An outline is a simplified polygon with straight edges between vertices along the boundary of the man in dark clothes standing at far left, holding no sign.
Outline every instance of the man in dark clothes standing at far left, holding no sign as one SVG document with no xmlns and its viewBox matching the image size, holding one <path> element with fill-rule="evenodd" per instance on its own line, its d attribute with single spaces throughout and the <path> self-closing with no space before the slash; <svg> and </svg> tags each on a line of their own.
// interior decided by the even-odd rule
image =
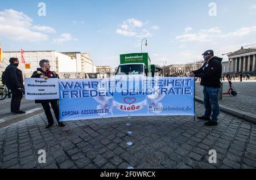
<svg viewBox="0 0 256 180">
<path fill-rule="evenodd" d="M 24 92 L 23 75 L 19 70 L 19 59 L 10 58 L 10 65 L 5 69 L 5 83 L 8 89 L 11 89 L 11 114 L 23 114 L 20 108 L 22 93 Z"/>
</svg>

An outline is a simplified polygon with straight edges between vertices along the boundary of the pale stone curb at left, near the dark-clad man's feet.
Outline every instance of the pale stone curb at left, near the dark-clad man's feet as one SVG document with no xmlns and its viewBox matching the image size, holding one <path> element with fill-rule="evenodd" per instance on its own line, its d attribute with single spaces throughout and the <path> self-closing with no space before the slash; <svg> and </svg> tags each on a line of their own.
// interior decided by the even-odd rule
<svg viewBox="0 0 256 180">
<path fill-rule="evenodd" d="M 0 128 L 9 126 L 13 123 L 22 121 L 22 120 L 30 118 L 30 117 L 33 117 L 34 115 L 37 115 L 37 114 L 40 114 L 40 113 L 43 113 L 43 112 L 44 112 L 44 110 L 42 108 L 35 108 L 35 109 L 28 110 L 25 114 L 10 115 L 7 118 L 0 119 Z"/>
</svg>

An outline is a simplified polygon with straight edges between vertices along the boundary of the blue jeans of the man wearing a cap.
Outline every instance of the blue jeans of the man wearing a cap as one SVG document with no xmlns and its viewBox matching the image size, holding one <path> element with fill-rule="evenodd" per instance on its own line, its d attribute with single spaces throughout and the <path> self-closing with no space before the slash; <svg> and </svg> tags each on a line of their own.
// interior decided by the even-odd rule
<svg viewBox="0 0 256 180">
<path fill-rule="evenodd" d="M 220 88 L 205 87 L 204 86 L 204 117 L 209 118 L 212 114 L 212 121 L 218 121 L 218 114 L 220 114 L 220 106 L 218 106 L 218 92 Z"/>
</svg>

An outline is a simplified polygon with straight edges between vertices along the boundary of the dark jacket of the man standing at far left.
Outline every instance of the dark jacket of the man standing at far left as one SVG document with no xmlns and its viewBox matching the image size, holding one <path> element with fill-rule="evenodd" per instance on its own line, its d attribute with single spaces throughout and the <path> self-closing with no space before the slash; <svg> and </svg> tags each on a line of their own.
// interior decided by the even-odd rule
<svg viewBox="0 0 256 180">
<path fill-rule="evenodd" d="M 5 82 L 9 89 L 24 88 L 22 71 L 14 64 L 5 69 Z"/>
</svg>

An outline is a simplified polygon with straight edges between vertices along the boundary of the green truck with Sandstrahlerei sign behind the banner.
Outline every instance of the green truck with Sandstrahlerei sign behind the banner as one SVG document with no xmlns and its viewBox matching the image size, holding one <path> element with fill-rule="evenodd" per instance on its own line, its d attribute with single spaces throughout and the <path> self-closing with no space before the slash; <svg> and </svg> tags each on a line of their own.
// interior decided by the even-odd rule
<svg viewBox="0 0 256 180">
<path fill-rule="evenodd" d="M 115 75 L 142 75 L 151 72 L 151 60 L 148 53 L 131 53 L 120 55 L 120 65 Z"/>
</svg>

